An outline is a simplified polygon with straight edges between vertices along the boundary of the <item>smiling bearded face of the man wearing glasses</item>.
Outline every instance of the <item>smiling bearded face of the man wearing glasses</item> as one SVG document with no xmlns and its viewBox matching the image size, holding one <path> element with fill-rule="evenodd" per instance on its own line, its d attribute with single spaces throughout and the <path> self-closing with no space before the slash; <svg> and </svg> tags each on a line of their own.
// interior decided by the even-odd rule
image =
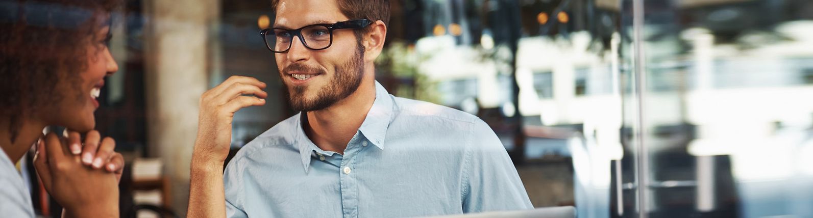
<svg viewBox="0 0 813 218">
<path fill-rule="evenodd" d="M 336 0 L 283 0 L 277 5 L 274 27 L 297 29 L 346 20 Z M 363 59 L 363 46 L 353 30 L 340 29 L 333 31 L 333 45 L 323 50 L 308 49 L 294 36 L 287 52 L 276 53 L 276 66 L 292 108 L 313 111 L 326 109 L 359 88 Z"/>
</svg>

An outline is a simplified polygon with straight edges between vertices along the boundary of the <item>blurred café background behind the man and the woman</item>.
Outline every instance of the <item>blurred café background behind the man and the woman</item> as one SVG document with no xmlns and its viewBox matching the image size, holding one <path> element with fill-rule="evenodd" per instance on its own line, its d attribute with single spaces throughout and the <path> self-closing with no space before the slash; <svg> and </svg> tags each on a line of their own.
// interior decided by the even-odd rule
<svg viewBox="0 0 813 218">
<path fill-rule="evenodd" d="M 391 3 L 377 80 L 488 122 L 534 207 L 813 217 L 813 1 Z M 116 17 L 120 71 L 96 115 L 127 156 L 122 203 L 183 217 L 202 92 L 269 83 L 270 104 L 237 113 L 233 152 L 294 113 L 258 33 L 271 3 L 127 0 Z"/>
</svg>

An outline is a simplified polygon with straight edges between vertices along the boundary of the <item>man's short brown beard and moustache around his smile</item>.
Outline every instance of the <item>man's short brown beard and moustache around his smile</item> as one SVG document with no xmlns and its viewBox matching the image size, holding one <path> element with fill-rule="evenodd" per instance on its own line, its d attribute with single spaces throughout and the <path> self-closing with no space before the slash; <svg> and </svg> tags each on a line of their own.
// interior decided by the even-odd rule
<svg viewBox="0 0 813 218">
<path fill-rule="evenodd" d="M 288 92 L 288 102 L 295 111 L 315 111 L 326 109 L 339 100 L 345 99 L 359 89 L 364 71 L 364 47 L 359 43 L 356 51 L 350 60 L 339 65 L 333 74 L 333 78 L 328 84 L 316 91 L 316 98 L 308 100 L 305 95 L 306 86 L 289 86 L 285 84 L 285 91 Z M 302 63 L 293 63 L 282 71 L 280 76 L 289 76 L 289 71 L 303 71 L 326 75 L 322 69 L 306 66 Z"/>
</svg>

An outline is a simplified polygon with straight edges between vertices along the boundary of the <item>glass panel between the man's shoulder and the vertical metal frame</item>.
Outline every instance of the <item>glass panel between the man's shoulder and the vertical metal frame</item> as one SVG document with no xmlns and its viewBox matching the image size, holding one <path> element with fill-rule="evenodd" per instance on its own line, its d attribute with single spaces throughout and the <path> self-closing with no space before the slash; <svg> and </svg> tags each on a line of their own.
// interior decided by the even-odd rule
<svg viewBox="0 0 813 218">
<path fill-rule="evenodd" d="M 612 163 L 633 166 L 621 143 L 635 124 L 622 104 L 635 98 L 621 1 L 398 1 L 393 11 L 376 66 L 385 87 L 488 122 L 535 207 L 610 216 L 611 188 L 634 181 L 624 169 L 611 182 L 621 181 Z M 624 193 L 634 208 L 634 189 Z"/>
</svg>

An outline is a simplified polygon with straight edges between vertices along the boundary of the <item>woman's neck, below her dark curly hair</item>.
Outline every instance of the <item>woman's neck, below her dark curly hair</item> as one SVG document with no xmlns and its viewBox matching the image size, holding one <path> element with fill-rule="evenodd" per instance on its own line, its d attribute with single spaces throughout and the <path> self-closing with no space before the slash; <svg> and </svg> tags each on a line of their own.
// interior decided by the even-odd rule
<svg viewBox="0 0 813 218">
<path fill-rule="evenodd" d="M 21 123 L 18 126 L 9 126 L 10 119 L 4 120 L 5 122 L 0 122 L 0 147 L 3 152 L 6 152 L 12 163 L 17 163 L 42 136 L 42 129 L 46 126 L 25 119 L 20 120 Z M 12 133 L 11 130 L 16 130 L 16 133 Z M 12 135 L 15 136 L 14 142 L 11 142 Z"/>
</svg>

